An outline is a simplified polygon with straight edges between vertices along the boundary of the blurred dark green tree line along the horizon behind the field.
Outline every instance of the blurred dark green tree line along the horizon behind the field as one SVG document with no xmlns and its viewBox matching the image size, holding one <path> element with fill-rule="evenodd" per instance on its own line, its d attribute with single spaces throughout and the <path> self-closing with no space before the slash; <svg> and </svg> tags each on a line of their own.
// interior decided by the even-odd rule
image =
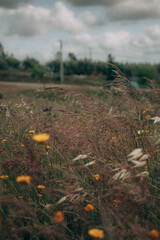
<svg viewBox="0 0 160 240">
<path fill-rule="evenodd" d="M 131 81 L 137 81 L 139 84 L 145 84 L 147 77 L 160 83 L 160 63 L 121 63 L 117 62 L 109 54 L 105 61 L 93 61 L 91 59 L 78 59 L 74 53 L 69 53 L 64 64 L 65 76 L 90 76 L 93 78 L 103 78 L 112 81 L 115 77 L 111 63 L 116 65 L 123 74 Z M 7 54 L 3 45 L 0 43 L 0 71 L 23 71 L 29 72 L 32 78 L 43 78 L 45 74 L 52 74 L 54 78 L 59 79 L 60 74 L 60 53 L 57 52 L 55 58 L 45 64 L 41 64 L 37 59 L 26 57 L 20 61 L 13 54 Z"/>
</svg>

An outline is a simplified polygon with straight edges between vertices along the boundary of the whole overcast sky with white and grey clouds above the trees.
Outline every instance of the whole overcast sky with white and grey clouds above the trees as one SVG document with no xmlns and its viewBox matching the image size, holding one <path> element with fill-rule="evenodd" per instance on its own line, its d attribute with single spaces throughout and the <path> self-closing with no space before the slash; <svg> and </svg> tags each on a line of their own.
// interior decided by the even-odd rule
<svg viewBox="0 0 160 240">
<path fill-rule="evenodd" d="M 160 0 L 0 0 L 0 41 L 9 53 L 49 61 L 92 54 L 160 62 Z"/>
</svg>

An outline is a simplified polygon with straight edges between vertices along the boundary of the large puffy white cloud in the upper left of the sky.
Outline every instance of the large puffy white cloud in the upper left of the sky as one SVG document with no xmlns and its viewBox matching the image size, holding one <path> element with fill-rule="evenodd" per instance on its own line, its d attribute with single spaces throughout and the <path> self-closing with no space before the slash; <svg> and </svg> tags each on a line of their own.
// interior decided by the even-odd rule
<svg viewBox="0 0 160 240">
<path fill-rule="evenodd" d="M 62 2 L 57 2 L 52 10 L 29 5 L 12 10 L 0 9 L 0 14 L 8 35 L 31 37 L 49 29 L 70 33 L 86 29 L 83 22 L 75 18 L 73 12 Z"/>
</svg>

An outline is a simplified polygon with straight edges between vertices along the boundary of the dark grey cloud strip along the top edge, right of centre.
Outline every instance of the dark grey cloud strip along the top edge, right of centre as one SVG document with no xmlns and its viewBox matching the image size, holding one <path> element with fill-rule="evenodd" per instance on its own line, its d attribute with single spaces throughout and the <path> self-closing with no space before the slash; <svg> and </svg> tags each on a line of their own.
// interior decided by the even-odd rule
<svg viewBox="0 0 160 240">
<path fill-rule="evenodd" d="M 77 7 L 83 7 L 83 6 L 96 6 L 96 5 L 102 5 L 102 6 L 113 6 L 120 2 L 124 2 L 126 0 L 66 0 L 68 3 L 77 6 Z"/>
</svg>

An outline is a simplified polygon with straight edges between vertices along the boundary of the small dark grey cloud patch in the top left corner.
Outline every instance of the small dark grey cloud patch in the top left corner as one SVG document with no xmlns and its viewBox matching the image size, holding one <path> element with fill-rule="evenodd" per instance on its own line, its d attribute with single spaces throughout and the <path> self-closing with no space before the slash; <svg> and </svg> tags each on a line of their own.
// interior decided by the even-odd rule
<svg viewBox="0 0 160 240">
<path fill-rule="evenodd" d="M 17 8 L 20 4 L 29 4 L 33 0 L 0 0 L 0 7 L 3 8 Z"/>
</svg>

